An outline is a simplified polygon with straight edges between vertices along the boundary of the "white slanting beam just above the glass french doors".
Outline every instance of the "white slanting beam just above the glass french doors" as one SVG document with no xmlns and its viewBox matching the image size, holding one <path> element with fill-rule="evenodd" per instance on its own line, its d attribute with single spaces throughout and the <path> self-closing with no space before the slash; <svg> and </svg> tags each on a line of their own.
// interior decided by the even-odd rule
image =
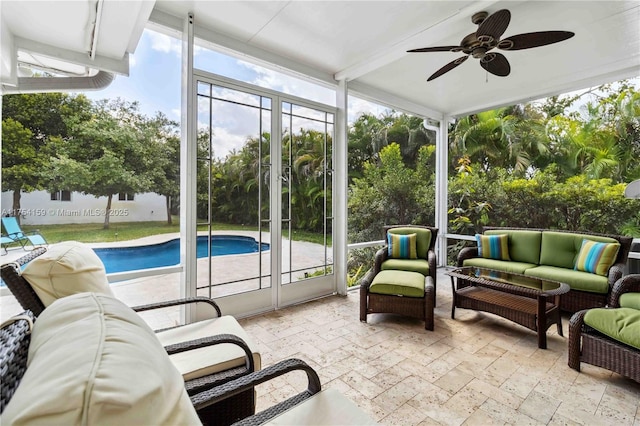
<svg viewBox="0 0 640 426">
<path fill-rule="evenodd" d="M 268 52 L 247 42 L 220 34 L 209 28 L 205 28 L 201 22 L 198 22 L 197 15 L 194 16 L 194 20 L 195 37 L 206 43 L 210 43 L 212 47 L 217 48 L 216 50 L 222 50 L 224 53 L 233 57 L 258 63 L 266 66 L 267 68 L 282 71 L 286 74 L 293 75 L 304 80 L 314 81 L 332 88 L 335 88 L 337 85 L 330 73 L 320 71 L 317 68 L 310 67 L 300 62 L 292 61 L 284 56 Z M 180 26 L 177 25 L 177 22 L 180 22 L 178 17 L 156 9 L 151 12 L 149 21 L 152 24 L 150 26 L 151 28 L 159 29 L 167 34 L 175 35 L 179 34 L 179 31 L 181 31 Z M 171 31 L 163 31 L 161 27 L 166 27 Z"/>
</svg>

